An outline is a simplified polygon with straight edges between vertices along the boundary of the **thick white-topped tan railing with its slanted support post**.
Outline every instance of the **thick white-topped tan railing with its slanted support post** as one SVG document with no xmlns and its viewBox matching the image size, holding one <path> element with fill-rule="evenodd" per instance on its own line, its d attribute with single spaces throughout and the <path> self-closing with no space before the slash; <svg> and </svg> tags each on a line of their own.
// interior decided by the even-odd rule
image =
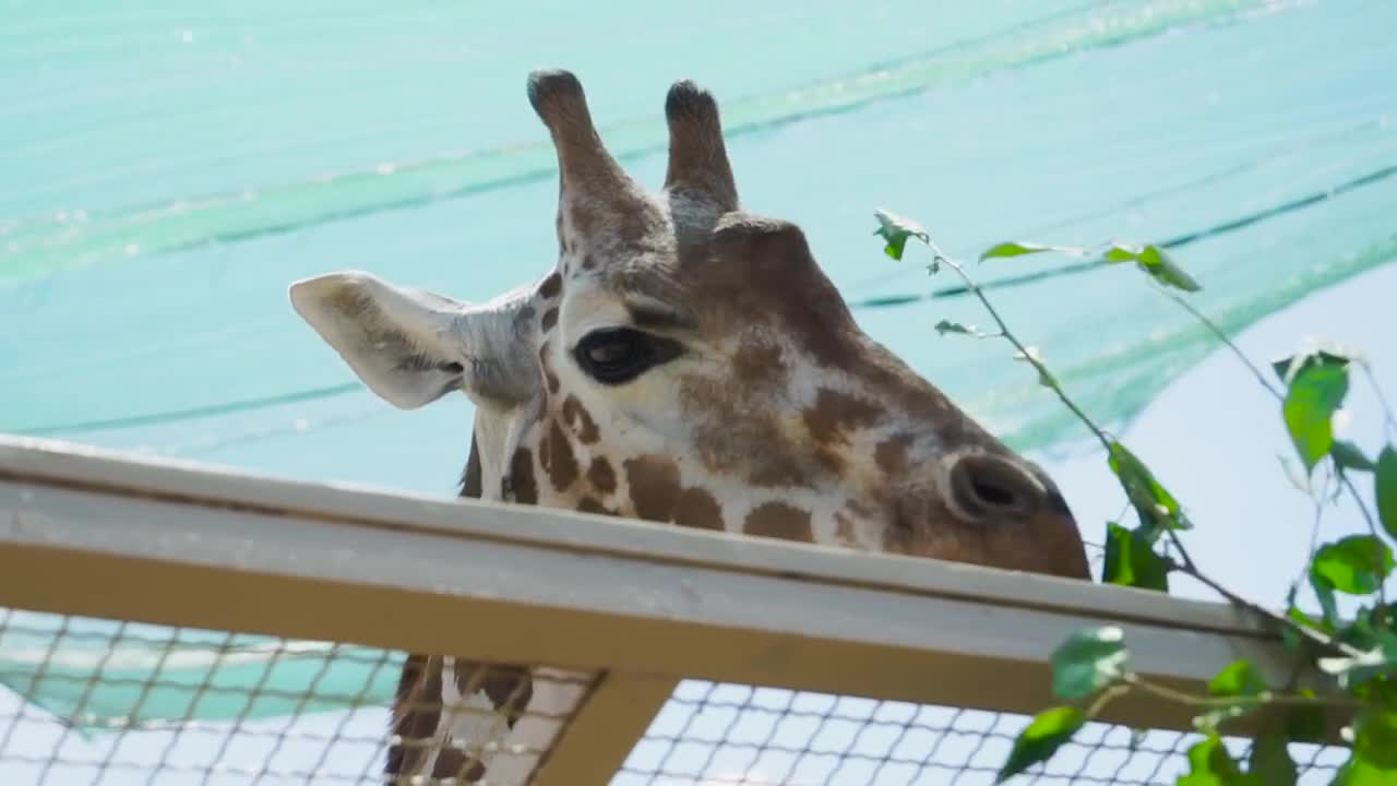
<svg viewBox="0 0 1397 786">
<path fill-rule="evenodd" d="M 1238 657 L 1288 677 L 1280 643 L 1221 604 L 17 438 L 0 438 L 0 606 L 272 636 L 286 657 L 314 641 L 569 670 L 588 688 L 538 751 L 545 785 L 626 772 L 682 680 L 1032 713 L 1055 703 L 1052 650 L 1101 624 L 1165 685 L 1200 689 Z M 1189 731 L 1190 715 L 1130 695 L 1102 720 Z"/>
</svg>

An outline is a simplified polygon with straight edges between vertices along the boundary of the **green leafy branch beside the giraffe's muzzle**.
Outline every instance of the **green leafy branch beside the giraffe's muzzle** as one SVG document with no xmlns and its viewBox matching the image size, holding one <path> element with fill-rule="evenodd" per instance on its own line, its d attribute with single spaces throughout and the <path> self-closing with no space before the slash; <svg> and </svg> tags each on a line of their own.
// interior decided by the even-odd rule
<svg viewBox="0 0 1397 786">
<path fill-rule="evenodd" d="M 1032 366 L 1038 382 L 1105 449 L 1108 464 L 1126 494 L 1129 508 L 1134 509 L 1137 522 L 1133 527 L 1106 522 L 1102 582 L 1168 592 L 1171 573 L 1189 575 L 1280 631 L 1282 641 L 1296 656 L 1291 684 L 1284 688 L 1267 685 L 1255 664 L 1238 660 L 1213 678 L 1208 695 L 1194 695 L 1154 684 L 1134 673 L 1119 628 L 1076 631 L 1052 659 L 1053 694 L 1067 703 L 1049 708 L 1032 719 L 1016 740 L 997 782 L 1052 758 L 1087 722 L 1098 717 L 1106 705 L 1132 691 L 1200 710 L 1194 726 L 1204 738 L 1189 748 L 1190 772 L 1180 776 L 1180 786 L 1294 785 L 1298 778 L 1296 765 L 1287 745 L 1291 741 L 1320 741 L 1326 712 L 1343 713 L 1347 720 L 1345 741 L 1351 751 L 1334 783 L 1368 786 L 1397 782 L 1397 606 L 1390 606 L 1384 594 L 1384 582 L 1394 569 L 1393 551 L 1384 533 L 1387 538 L 1397 538 L 1397 448 L 1393 446 L 1397 420 L 1366 362 L 1343 348 L 1309 347 L 1273 364 L 1280 382 L 1275 385 L 1213 320 L 1180 295 L 1197 292 L 1201 285 L 1164 249 L 1154 245 L 1112 242 L 1087 249 L 1014 241 L 997 243 L 979 256 L 981 263 L 1037 253 L 1094 256 L 1106 264 L 1134 263 L 1165 296 L 1189 312 L 1225 345 L 1277 400 L 1303 467 L 1303 477 L 1298 478 L 1296 485 L 1306 491 L 1315 505 L 1315 530 L 1305 578 L 1320 604 L 1322 617 L 1315 620 L 1296 606 L 1298 583 L 1287 597 L 1285 613 L 1277 613 L 1239 596 L 1199 568 L 1180 534 L 1193 529 L 1183 505 L 1139 456 L 1097 425 L 1071 400 L 1038 350 L 1027 345 L 1009 327 L 963 263 L 947 256 L 915 221 L 883 210 L 875 215 L 879 221 L 875 234 L 883 238 L 887 256 L 901 260 L 909 241 L 921 242 L 930 252 L 928 273 L 935 276 L 943 267 L 950 269 L 997 327 L 996 331 L 981 331 L 972 326 L 940 320 L 935 326 L 936 331 L 942 336 L 964 334 L 1007 341 L 1014 348 L 1014 359 Z M 1366 373 L 1384 415 L 1383 428 L 1389 442 L 1376 460 L 1369 459 L 1355 443 L 1334 436 L 1334 417 L 1348 394 L 1351 369 L 1355 365 Z M 1320 515 L 1324 503 L 1333 502 L 1333 498 L 1327 491 L 1329 483 L 1315 492 L 1316 470 L 1326 471 L 1326 478 L 1337 481 L 1336 494 L 1348 494 L 1368 526 L 1368 534 L 1320 543 Z M 1355 473 L 1373 476 L 1372 506 L 1352 483 L 1351 476 Z M 1361 606 L 1356 615 L 1345 622 L 1338 618 L 1338 594 L 1369 600 L 1370 604 Z M 1305 663 L 1334 676 L 1343 694 L 1317 696 L 1309 691 L 1294 691 L 1295 676 Z M 1243 769 L 1222 745 L 1221 729 L 1227 722 L 1263 706 L 1284 708 L 1287 722 L 1284 729 L 1268 730 L 1255 741 Z"/>
</svg>

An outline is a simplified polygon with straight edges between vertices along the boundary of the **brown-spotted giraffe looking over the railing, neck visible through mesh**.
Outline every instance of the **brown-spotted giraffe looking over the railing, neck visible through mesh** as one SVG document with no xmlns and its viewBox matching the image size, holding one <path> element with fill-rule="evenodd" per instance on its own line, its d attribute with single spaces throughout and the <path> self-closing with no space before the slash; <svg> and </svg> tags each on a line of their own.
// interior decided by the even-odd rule
<svg viewBox="0 0 1397 786">
<path fill-rule="evenodd" d="M 355 270 L 289 291 L 393 406 L 471 399 L 462 496 L 1091 579 L 1052 478 L 869 338 L 799 227 L 739 204 L 708 91 L 668 92 L 658 194 L 576 76 L 534 71 L 528 99 L 557 154 L 552 270 L 482 303 Z M 395 743 L 384 776 L 525 782 L 481 745 L 573 701 L 546 677 L 409 656 L 393 730 L 430 744 Z"/>
</svg>

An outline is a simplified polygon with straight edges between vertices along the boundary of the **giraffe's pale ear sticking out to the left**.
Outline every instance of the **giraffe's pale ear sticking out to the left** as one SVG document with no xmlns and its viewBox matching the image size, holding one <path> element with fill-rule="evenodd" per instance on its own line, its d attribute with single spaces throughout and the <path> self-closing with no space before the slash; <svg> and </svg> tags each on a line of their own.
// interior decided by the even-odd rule
<svg viewBox="0 0 1397 786">
<path fill-rule="evenodd" d="M 524 291 L 472 306 L 395 287 L 370 273 L 296 281 L 291 303 L 380 399 L 402 410 L 465 390 L 479 401 L 524 401 L 538 369 L 517 351 L 532 326 Z"/>
</svg>

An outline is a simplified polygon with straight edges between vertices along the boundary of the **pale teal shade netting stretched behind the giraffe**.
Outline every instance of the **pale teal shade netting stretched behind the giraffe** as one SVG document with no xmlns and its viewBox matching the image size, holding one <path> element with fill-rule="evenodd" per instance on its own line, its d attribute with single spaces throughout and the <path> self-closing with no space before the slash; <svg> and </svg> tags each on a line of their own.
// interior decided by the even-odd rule
<svg viewBox="0 0 1397 786">
<path fill-rule="evenodd" d="M 1171 242 L 1204 287 L 1194 305 L 1227 330 L 1397 256 L 1390 3 L 8 14 L 0 431 L 13 434 L 451 494 L 469 404 L 377 401 L 285 288 L 363 269 L 479 301 L 542 276 L 556 172 L 524 98 L 539 66 L 578 73 L 608 144 L 651 186 L 669 83 L 714 90 L 746 206 L 798 221 L 863 327 L 1025 450 L 1081 434 L 1003 345 L 930 330 L 985 316 L 932 296 L 954 281 L 928 280 L 915 253 L 883 256 L 875 208 L 919 220 L 963 259 L 1007 239 Z M 1071 394 L 1119 424 L 1213 344 L 1139 271 L 1076 263 L 974 273 Z M 381 705 L 401 662 L 116 625 L 14 611 L 0 681 L 103 727 Z M 320 698 L 300 706 L 310 684 Z"/>
</svg>

